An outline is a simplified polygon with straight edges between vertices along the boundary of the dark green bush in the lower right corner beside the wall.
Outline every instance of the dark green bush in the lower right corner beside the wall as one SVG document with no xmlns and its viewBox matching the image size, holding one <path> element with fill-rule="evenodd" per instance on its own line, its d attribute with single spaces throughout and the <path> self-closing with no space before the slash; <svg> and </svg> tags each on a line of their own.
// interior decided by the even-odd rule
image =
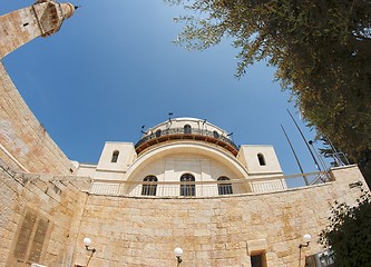
<svg viewBox="0 0 371 267">
<path fill-rule="evenodd" d="M 335 266 L 371 266 L 370 195 L 364 194 L 355 207 L 336 202 L 331 214 L 320 243 L 334 253 Z"/>
</svg>

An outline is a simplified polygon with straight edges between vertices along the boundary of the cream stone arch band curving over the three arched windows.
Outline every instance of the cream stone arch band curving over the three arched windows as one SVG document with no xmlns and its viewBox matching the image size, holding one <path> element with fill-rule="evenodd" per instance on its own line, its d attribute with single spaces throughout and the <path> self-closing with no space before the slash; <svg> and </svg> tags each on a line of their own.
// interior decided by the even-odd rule
<svg viewBox="0 0 371 267">
<path fill-rule="evenodd" d="M 153 149 L 140 155 L 140 157 L 137 158 L 137 160 L 128 168 L 127 180 L 133 180 L 133 177 L 136 177 L 136 174 L 145 168 L 141 166 L 146 166 L 157 159 L 174 154 L 196 154 L 209 157 L 231 169 L 237 177 L 248 179 L 246 168 L 234 156 L 230 155 L 230 152 L 208 144 L 177 141 L 176 144 L 170 142 L 154 147 Z"/>
</svg>

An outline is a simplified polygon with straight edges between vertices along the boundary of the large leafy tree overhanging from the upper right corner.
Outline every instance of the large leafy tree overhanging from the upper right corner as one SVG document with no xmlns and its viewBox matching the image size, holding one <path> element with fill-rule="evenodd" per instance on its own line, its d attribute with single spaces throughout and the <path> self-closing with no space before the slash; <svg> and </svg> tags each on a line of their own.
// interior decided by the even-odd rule
<svg viewBox="0 0 371 267">
<path fill-rule="evenodd" d="M 275 66 L 304 118 L 371 181 L 370 0 L 164 0 L 191 14 L 178 43 L 203 50 L 233 40 L 236 77 L 256 61 Z M 204 16 L 204 18 L 197 17 Z"/>
</svg>

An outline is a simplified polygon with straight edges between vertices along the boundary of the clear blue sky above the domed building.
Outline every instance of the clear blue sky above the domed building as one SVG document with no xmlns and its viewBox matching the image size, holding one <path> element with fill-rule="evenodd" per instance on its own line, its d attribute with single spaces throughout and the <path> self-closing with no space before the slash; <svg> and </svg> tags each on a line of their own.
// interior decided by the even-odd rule
<svg viewBox="0 0 371 267">
<path fill-rule="evenodd" d="M 0 14 L 32 4 L 2 1 Z M 283 125 L 304 167 L 315 166 L 273 82 L 274 69 L 257 63 L 237 80 L 237 53 L 228 40 L 189 52 L 172 43 L 180 7 L 162 0 L 72 1 L 82 4 L 61 30 L 9 55 L 3 63 L 49 135 L 74 160 L 97 162 L 105 141 L 136 142 L 140 127 L 195 117 L 234 132 L 237 145 L 273 145 L 285 174 L 299 174 Z M 300 122 L 307 139 L 314 132 Z M 320 144 L 318 144 L 320 145 Z"/>
</svg>

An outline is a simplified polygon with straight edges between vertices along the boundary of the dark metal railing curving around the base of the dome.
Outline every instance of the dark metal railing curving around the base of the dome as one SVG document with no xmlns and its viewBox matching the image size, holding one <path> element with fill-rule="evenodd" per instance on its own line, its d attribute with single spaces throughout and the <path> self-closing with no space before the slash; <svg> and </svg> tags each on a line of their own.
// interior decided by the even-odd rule
<svg viewBox="0 0 371 267">
<path fill-rule="evenodd" d="M 164 129 L 164 130 L 159 130 L 156 131 L 154 134 L 150 134 L 148 136 L 143 137 L 136 145 L 135 147 L 139 147 L 140 145 L 153 140 L 153 139 L 157 139 L 159 137 L 164 137 L 164 136 L 172 136 L 172 135 L 179 135 L 179 134 L 184 134 L 184 135 L 197 135 L 197 136 L 204 136 L 204 137 L 212 137 L 215 139 L 218 139 L 223 142 L 226 142 L 228 145 L 231 145 L 232 147 L 234 147 L 236 150 L 238 150 L 238 146 L 236 146 L 230 138 L 222 136 L 217 132 L 214 131 L 209 131 L 209 130 L 202 130 L 202 129 L 197 129 L 197 128 L 192 128 L 192 130 L 189 132 L 185 131 L 184 128 L 168 128 L 168 129 Z"/>
</svg>

